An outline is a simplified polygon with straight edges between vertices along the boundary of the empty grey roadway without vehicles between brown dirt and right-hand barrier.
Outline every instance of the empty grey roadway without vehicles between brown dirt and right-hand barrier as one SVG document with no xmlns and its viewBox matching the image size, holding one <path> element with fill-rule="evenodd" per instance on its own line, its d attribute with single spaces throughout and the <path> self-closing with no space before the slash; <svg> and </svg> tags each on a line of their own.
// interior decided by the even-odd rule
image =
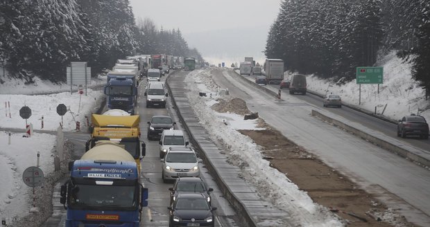
<svg viewBox="0 0 430 227">
<path fill-rule="evenodd" d="M 258 112 L 284 136 L 377 194 L 405 217 L 422 226 L 430 225 L 427 169 L 314 118 L 311 109 L 322 109 L 320 105 L 309 104 L 286 92 L 284 101 L 279 101 L 244 83 L 234 71 L 213 72 L 212 78 L 218 86 L 229 89 L 231 96 L 246 100 L 250 110 Z"/>
</svg>

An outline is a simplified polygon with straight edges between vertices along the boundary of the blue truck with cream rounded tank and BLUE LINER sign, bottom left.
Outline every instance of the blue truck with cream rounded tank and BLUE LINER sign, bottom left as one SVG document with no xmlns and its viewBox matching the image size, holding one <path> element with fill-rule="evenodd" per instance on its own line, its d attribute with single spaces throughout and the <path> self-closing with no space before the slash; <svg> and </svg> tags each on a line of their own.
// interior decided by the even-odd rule
<svg viewBox="0 0 430 227">
<path fill-rule="evenodd" d="M 133 157 L 112 141 L 102 141 L 69 163 L 70 176 L 61 186 L 66 227 L 138 227 L 148 206 L 148 188 L 139 182 Z"/>
</svg>

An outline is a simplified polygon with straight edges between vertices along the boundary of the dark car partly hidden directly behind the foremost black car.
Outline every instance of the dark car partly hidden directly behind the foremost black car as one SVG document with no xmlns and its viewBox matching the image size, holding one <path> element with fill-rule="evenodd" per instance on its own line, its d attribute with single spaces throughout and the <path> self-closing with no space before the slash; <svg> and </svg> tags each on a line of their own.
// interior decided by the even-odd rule
<svg viewBox="0 0 430 227">
<path fill-rule="evenodd" d="M 170 192 L 170 203 L 172 204 L 178 194 L 181 193 L 199 193 L 203 194 L 207 198 L 209 205 L 211 204 L 211 195 L 209 194 L 214 189 L 208 188 L 205 181 L 200 177 L 180 177 L 176 179 L 173 184 L 173 188 L 169 188 Z"/>
</svg>

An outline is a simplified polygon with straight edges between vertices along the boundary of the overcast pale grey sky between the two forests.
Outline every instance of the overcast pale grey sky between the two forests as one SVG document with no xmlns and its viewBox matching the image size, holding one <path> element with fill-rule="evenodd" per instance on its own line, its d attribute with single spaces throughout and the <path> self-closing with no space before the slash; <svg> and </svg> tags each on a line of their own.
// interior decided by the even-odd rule
<svg viewBox="0 0 430 227">
<path fill-rule="evenodd" d="M 130 0 L 137 20 L 149 18 L 159 29 L 179 28 L 189 46 L 197 48 L 205 58 L 262 55 L 280 3 L 281 0 Z M 201 40 L 203 37 L 205 40 Z"/>
</svg>

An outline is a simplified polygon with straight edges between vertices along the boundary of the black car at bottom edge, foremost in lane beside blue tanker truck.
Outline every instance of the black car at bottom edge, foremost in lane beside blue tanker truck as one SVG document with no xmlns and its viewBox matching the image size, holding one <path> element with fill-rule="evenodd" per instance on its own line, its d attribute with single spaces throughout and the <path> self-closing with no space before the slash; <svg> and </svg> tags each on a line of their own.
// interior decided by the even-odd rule
<svg viewBox="0 0 430 227">
<path fill-rule="evenodd" d="M 215 226 L 214 210 L 203 194 L 178 194 L 169 209 L 169 226 Z"/>
</svg>

